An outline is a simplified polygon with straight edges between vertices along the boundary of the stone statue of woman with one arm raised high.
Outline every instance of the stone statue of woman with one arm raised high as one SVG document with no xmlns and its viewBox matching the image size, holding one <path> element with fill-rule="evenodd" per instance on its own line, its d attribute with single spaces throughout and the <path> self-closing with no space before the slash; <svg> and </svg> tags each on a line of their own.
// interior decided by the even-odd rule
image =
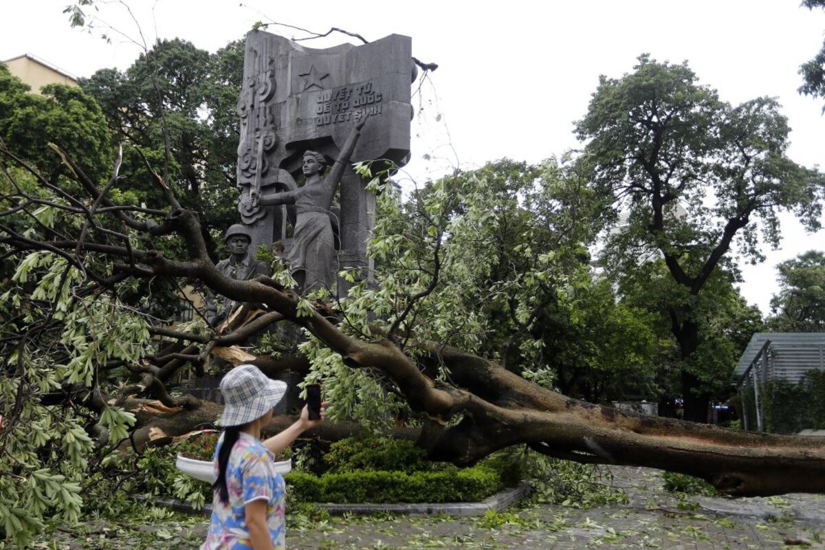
<svg viewBox="0 0 825 550">
<path fill-rule="evenodd" d="M 303 187 L 257 198 L 263 205 L 295 204 L 295 231 L 287 260 L 292 266 L 295 280 L 304 292 L 322 287 L 332 288 L 335 283 L 335 242 L 329 209 L 332 195 L 335 195 L 347 162 L 361 137 L 364 123 L 361 122 L 352 129 L 328 174 L 322 176 L 327 165 L 323 155 L 307 151 L 302 165 L 306 177 Z M 256 198 L 253 197 L 252 200 L 255 201 Z"/>
</svg>

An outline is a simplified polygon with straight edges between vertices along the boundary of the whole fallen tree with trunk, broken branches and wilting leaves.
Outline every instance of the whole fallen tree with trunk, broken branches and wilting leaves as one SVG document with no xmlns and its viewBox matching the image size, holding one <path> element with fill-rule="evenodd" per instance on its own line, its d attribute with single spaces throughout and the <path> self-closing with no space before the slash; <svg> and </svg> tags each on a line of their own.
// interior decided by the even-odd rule
<svg viewBox="0 0 825 550">
<path fill-rule="evenodd" d="M 285 270 L 273 278 L 229 279 L 210 260 L 196 214 L 181 206 L 157 173 L 155 182 L 168 209 L 117 204 L 107 194 L 118 179 L 118 163 L 111 179 L 99 188 L 68 155 L 55 149 L 75 176 L 83 198 L 79 190 L 73 194 L 67 190 L 70 186 L 46 181 L 26 162 L 2 150 L 9 189 L 2 198 L 0 245 L 4 258 L 19 261 L 13 283 L 7 284 L 3 294 L 8 315 L 2 339 L 4 381 L 16 381 L 4 387 L 4 425 L 0 431 L 0 451 L 4 454 L 14 456 L 21 451 L 20 438 L 27 423 L 32 419 L 43 422 L 31 407 L 46 407 L 40 410 L 40 415 L 46 416 L 50 404 L 55 403 L 78 412 L 72 420 L 64 419 L 70 425 L 66 431 L 40 442 L 35 438 L 34 443 L 50 448 L 50 440 L 62 438 L 62 448 L 79 465 L 85 460 L 83 454 L 91 453 L 91 440 L 80 447 L 67 444 L 68 433 L 73 434 L 69 438 L 73 441 L 82 440 L 84 431 L 98 435 L 99 445 L 105 448 L 106 441 L 119 444 L 130 439 L 129 432 L 133 440 L 135 431 L 142 434 L 153 426 L 163 427 L 167 435 L 178 435 L 214 419 L 219 407 L 168 391 L 168 383 L 186 365 L 202 373 L 208 355 L 221 355 L 235 363 L 261 364 L 268 373 L 276 374 L 286 368 L 305 371 L 309 358 L 311 377 L 328 375 L 333 367 L 346 369 L 339 373 L 367 373 L 388 395 L 402 397 L 421 420 L 418 444 L 434 460 L 469 465 L 497 449 L 526 444 L 542 454 L 582 463 L 636 464 L 688 473 L 733 496 L 825 492 L 823 440 L 625 414 L 532 383 L 514 374 L 512 364 L 505 369 L 477 354 L 416 336 L 419 329 L 413 317 L 444 284 L 439 270 L 446 266 L 446 234 L 460 235 L 460 223 L 480 208 L 481 204 L 474 204 L 479 197 L 473 192 L 483 194 L 479 190 L 483 182 L 470 182 L 475 191 L 468 188 L 463 195 L 441 197 L 461 201 L 465 214 L 459 218 L 439 219 L 441 214 L 419 197 L 424 202 L 419 204 L 422 208 L 414 210 L 415 215 L 425 219 L 426 228 L 435 228 L 425 232 L 431 237 L 429 248 L 417 251 L 430 255 L 427 266 L 418 264 L 418 270 L 427 273 L 428 284 L 413 285 L 402 297 L 394 297 L 398 308 L 385 312 L 389 314 L 383 322 L 370 319 L 367 312 L 359 321 L 351 317 L 359 300 L 363 302 L 368 293 L 389 287 L 375 289 L 364 283 L 348 305 L 331 306 L 297 294 L 290 288 Z M 21 182 L 24 179 L 27 184 Z M 389 195 L 385 192 L 383 200 L 397 201 Z M 432 197 L 441 195 L 429 196 L 434 200 Z M 46 210 L 53 214 L 49 219 L 44 215 Z M 442 208 L 441 213 L 447 210 L 455 211 L 455 204 Z M 31 227 L 26 228 L 24 220 Z M 380 234 L 380 238 L 389 237 L 392 235 Z M 177 255 L 170 242 L 181 245 Z M 155 247 L 151 247 L 153 243 Z M 455 251 L 468 252 L 474 253 Z M 236 316 L 243 322 L 233 325 L 230 320 L 223 333 L 149 328 L 138 310 L 118 301 L 118 294 L 124 285 L 160 278 L 204 284 L 216 294 L 244 303 Z M 444 295 L 439 298 L 446 299 Z M 532 306 L 540 312 L 543 304 Z M 117 343 L 102 334 L 89 341 L 82 334 L 95 312 L 103 312 L 105 317 L 95 321 L 97 327 L 109 322 L 106 326 L 111 331 L 119 331 Z M 122 317 L 112 322 L 112 312 L 120 312 Z M 457 317 L 471 312 L 460 313 Z M 531 316 L 535 314 L 516 312 L 515 317 L 527 326 Z M 458 318 L 455 322 L 457 327 L 467 320 Z M 273 323 L 290 323 L 306 331 L 309 341 L 302 345 L 304 359 L 251 356 L 232 347 Z M 12 333 L 12 329 L 19 333 Z M 126 345 L 125 338 L 130 336 L 146 344 L 150 331 L 178 343 L 158 353 L 148 353 L 148 346 Z M 45 349 L 47 342 L 50 347 Z M 108 347 L 90 352 L 90 346 L 96 345 Z M 57 367 L 47 363 L 57 356 L 63 361 Z M 116 369 L 125 369 L 132 381 L 107 383 L 106 372 Z M 118 386 L 119 394 L 111 392 Z M 143 410 L 135 418 L 121 408 L 130 407 L 135 396 L 156 397 L 165 407 L 179 410 Z M 34 403 L 26 405 L 26 400 Z M 30 451 L 37 452 L 36 447 Z M 25 461 L 20 462 L 12 469 L 25 478 Z"/>
</svg>

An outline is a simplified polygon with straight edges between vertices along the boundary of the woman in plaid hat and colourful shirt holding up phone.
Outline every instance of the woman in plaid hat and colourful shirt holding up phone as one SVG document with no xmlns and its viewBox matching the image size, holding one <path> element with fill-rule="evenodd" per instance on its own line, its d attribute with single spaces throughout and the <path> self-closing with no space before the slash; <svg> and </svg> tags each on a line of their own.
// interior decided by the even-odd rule
<svg viewBox="0 0 825 550">
<path fill-rule="evenodd" d="M 288 447 L 304 430 L 323 420 L 309 420 L 304 407 L 295 424 L 265 441 L 261 428 L 272 420 L 272 408 L 286 384 L 266 378 L 256 366 L 242 364 L 220 383 L 224 433 L 214 454 L 212 519 L 200 550 L 285 550 L 285 485 L 275 471 L 273 455 Z"/>
</svg>

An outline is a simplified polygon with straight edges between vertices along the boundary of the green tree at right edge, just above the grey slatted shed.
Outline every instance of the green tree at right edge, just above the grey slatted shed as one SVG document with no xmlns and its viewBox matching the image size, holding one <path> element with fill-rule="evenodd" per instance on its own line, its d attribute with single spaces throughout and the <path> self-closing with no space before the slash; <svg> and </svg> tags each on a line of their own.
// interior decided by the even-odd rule
<svg viewBox="0 0 825 550">
<path fill-rule="evenodd" d="M 779 294 L 771 299 L 768 326 L 776 332 L 825 331 L 825 253 L 807 251 L 783 261 Z"/>
</svg>

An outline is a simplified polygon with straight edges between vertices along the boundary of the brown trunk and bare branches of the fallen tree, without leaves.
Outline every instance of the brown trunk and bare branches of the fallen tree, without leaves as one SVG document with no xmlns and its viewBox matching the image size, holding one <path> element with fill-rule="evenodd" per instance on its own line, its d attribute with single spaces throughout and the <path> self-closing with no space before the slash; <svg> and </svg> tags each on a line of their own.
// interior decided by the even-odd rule
<svg viewBox="0 0 825 550">
<path fill-rule="evenodd" d="M 304 327 L 342 355 L 351 369 L 375 369 L 386 374 L 413 411 L 425 419 L 417 441 L 434 460 L 469 465 L 497 449 L 527 444 L 540 453 L 582 463 L 629 464 L 683 472 L 702 477 L 733 496 L 825 492 L 823 440 L 629 415 L 554 393 L 498 364 L 437 342 L 428 344 L 424 353 L 413 359 L 405 354 L 392 332 L 377 341 L 348 336 L 324 304 L 318 303 L 314 312 L 299 314 L 299 296 L 291 289 L 266 277 L 232 280 L 216 270 L 207 254 L 196 214 L 181 208 L 160 176 L 155 176 L 156 181 L 171 211 L 158 224 L 134 219 L 127 214 L 128 209 L 106 198 L 106 190 L 117 177 L 116 168 L 112 180 L 101 191 L 65 155 L 64 161 L 94 201 L 92 207 L 80 201 L 74 207 L 75 214 L 85 220 L 77 236 L 55 233 L 36 240 L 0 220 L 0 242 L 13 251 L 50 251 L 65 258 L 86 275 L 88 294 L 130 277 L 186 277 L 199 280 L 217 294 L 245 303 L 243 313 L 228 323 L 224 333 L 196 336 L 163 331 L 163 336 L 175 338 L 181 344 L 163 355 L 144 358 L 139 364 L 125 364 L 142 378 L 139 384 L 124 388 L 118 402 L 125 403 L 128 396 L 151 396 L 167 407 L 182 407 L 173 413 L 141 413 L 137 433 L 140 440 L 148 440 L 152 427 L 163 429 L 167 435 L 179 435 L 195 425 L 214 421 L 219 414 L 219 407 L 214 404 L 167 393 L 165 384 L 186 364 L 194 365 L 202 373 L 207 355 L 215 354 L 235 363 L 261 364 L 271 374 L 280 369 L 305 369 L 307 365 L 302 360 L 256 358 L 231 347 L 272 322 L 290 322 Z M 31 172 L 42 185 L 54 188 L 35 171 Z M 42 203 L 21 191 L 18 196 L 24 206 Z M 186 244 L 187 257 L 173 260 L 157 250 L 135 248 L 127 235 L 111 229 L 103 231 L 99 219 L 115 220 L 153 237 L 177 235 Z M 92 234 L 100 240 L 91 240 Z M 119 263 L 115 263 L 112 272 L 96 273 L 85 261 L 88 255 L 104 255 Z M 253 312 L 258 312 L 257 316 L 247 315 Z M 439 365 L 449 370 L 450 383 L 438 380 Z M 97 388 L 90 393 L 101 400 Z"/>
</svg>

